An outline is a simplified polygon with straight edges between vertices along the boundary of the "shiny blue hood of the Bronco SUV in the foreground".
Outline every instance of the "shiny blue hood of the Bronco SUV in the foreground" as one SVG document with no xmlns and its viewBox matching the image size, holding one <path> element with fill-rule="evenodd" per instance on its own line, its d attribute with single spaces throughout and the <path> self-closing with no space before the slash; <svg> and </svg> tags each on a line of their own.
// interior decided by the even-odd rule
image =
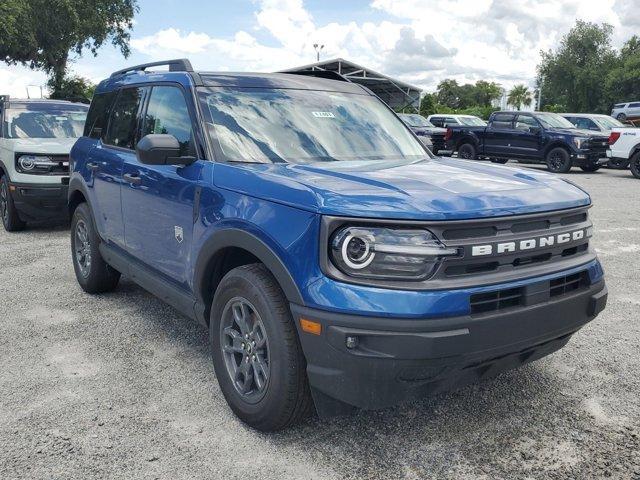
<svg viewBox="0 0 640 480">
<path fill-rule="evenodd" d="M 557 176 L 451 158 L 214 165 L 219 187 L 326 215 L 453 220 L 590 204 Z"/>
</svg>

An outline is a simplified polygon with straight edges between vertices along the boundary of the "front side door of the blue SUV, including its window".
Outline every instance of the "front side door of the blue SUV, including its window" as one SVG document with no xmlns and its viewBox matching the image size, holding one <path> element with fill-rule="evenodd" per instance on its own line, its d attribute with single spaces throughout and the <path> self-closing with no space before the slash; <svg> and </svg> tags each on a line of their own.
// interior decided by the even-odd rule
<svg viewBox="0 0 640 480">
<path fill-rule="evenodd" d="M 169 134 L 181 155 L 198 156 L 195 110 L 177 84 L 151 87 L 143 114 L 141 138 Z M 194 200 L 203 161 L 189 166 L 145 165 L 135 155 L 124 165 L 122 211 L 127 251 L 147 267 L 187 288 L 193 234 Z"/>
</svg>

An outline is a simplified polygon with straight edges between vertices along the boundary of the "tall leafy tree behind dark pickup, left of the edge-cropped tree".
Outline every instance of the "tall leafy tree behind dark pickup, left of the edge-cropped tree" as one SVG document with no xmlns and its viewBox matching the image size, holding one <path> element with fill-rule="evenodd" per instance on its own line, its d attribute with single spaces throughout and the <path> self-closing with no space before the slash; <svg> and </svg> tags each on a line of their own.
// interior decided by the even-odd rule
<svg viewBox="0 0 640 480">
<path fill-rule="evenodd" d="M 613 28 L 578 21 L 557 50 L 541 52 L 537 84 L 543 104 L 565 105 L 572 112 L 603 112 L 609 107 L 604 78 L 616 64 Z"/>
</svg>

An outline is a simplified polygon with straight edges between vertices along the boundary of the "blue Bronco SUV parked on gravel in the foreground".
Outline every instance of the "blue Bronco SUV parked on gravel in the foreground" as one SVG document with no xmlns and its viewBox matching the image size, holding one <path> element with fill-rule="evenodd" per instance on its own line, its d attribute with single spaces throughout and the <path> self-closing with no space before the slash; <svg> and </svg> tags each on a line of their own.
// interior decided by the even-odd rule
<svg viewBox="0 0 640 480">
<path fill-rule="evenodd" d="M 249 425 L 491 377 L 605 307 L 575 185 L 434 157 L 337 75 L 161 63 L 97 87 L 71 152 L 73 264 L 89 293 L 125 275 L 208 328 Z"/>
</svg>

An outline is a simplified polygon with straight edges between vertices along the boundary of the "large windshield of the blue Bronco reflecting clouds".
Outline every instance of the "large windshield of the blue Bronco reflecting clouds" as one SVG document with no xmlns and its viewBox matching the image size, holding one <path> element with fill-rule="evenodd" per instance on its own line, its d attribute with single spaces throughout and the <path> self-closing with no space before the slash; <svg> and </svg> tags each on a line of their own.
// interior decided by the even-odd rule
<svg viewBox="0 0 640 480">
<path fill-rule="evenodd" d="M 369 95 L 294 89 L 200 90 L 209 135 L 228 161 L 416 160 L 428 155 Z"/>
</svg>

